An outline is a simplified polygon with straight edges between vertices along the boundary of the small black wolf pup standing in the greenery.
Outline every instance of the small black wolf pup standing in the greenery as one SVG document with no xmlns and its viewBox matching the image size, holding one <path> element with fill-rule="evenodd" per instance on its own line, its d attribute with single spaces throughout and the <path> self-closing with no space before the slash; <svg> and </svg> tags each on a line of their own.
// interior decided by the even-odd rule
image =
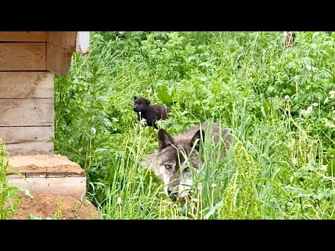
<svg viewBox="0 0 335 251">
<path fill-rule="evenodd" d="M 147 126 L 152 126 L 157 129 L 156 121 L 168 119 L 168 114 L 171 112 L 171 109 L 163 105 L 150 105 L 150 100 L 147 98 L 137 98 L 135 96 L 133 111 L 137 113 L 138 121 L 140 121 L 140 119 L 146 119 Z M 138 112 L 141 112 L 141 115 Z"/>
</svg>

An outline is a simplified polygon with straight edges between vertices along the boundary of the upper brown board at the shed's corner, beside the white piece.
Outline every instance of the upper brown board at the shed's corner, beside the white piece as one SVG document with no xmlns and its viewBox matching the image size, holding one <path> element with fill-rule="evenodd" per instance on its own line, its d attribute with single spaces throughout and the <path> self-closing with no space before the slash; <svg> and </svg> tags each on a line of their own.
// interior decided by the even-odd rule
<svg viewBox="0 0 335 251">
<path fill-rule="evenodd" d="M 76 36 L 77 31 L 47 31 L 47 43 L 73 52 L 75 50 Z"/>
</svg>

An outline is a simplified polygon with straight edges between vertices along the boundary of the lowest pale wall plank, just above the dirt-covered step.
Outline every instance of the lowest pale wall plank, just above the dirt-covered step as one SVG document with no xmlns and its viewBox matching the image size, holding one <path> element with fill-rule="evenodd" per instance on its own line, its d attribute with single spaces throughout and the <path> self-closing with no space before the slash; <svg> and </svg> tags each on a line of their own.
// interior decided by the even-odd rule
<svg viewBox="0 0 335 251">
<path fill-rule="evenodd" d="M 54 136 L 53 126 L 40 127 L 0 127 L 0 138 L 9 153 L 29 151 L 53 152 L 54 144 L 47 142 Z"/>
</svg>

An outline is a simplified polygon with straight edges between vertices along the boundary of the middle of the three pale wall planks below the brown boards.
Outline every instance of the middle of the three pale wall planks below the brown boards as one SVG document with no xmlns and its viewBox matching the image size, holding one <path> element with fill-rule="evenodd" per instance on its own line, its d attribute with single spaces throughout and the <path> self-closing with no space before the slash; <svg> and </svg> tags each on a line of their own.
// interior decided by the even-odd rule
<svg viewBox="0 0 335 251">
<path fill-rule="evenodd" d="M 0 99 L 0 126 L 53 126 L 52 98 Z"/>
</svg>

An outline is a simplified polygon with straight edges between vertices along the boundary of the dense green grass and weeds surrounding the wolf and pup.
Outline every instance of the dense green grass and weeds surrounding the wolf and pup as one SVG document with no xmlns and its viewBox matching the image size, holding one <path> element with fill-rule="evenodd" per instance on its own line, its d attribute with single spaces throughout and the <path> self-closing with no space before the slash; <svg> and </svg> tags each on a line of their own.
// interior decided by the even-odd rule
<svg viewBox="0 0 335 251">
<path fill-rule="evenodd" d="M 335 33 L 91 32 L 55 79 L 57 153 L 87 172 L 105 219 L 329 219 L 335 215 Z M 133 96 L 172 107 L 170 133 L 200 121 L 232 128 L 225 160 L 204 146 L 184 209 L 143 165 L 156 132 L 136 121 Z"/>
</svg>

